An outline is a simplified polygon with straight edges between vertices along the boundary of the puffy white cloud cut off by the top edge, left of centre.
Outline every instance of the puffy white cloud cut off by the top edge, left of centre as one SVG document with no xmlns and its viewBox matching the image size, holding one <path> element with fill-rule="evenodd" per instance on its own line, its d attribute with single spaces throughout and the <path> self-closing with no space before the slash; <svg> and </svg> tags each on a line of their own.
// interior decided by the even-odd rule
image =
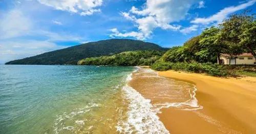
<svg viewBox="0 0 256 134">
<path fill-rule="evenodd" d="M 57 10 L 79 13 L 80 15 L 92 15 L 100 12 L 97 7 L 102 5 L 102 0 L 37 0 L 39 3 L 53 7 Z"/>
</svg>

